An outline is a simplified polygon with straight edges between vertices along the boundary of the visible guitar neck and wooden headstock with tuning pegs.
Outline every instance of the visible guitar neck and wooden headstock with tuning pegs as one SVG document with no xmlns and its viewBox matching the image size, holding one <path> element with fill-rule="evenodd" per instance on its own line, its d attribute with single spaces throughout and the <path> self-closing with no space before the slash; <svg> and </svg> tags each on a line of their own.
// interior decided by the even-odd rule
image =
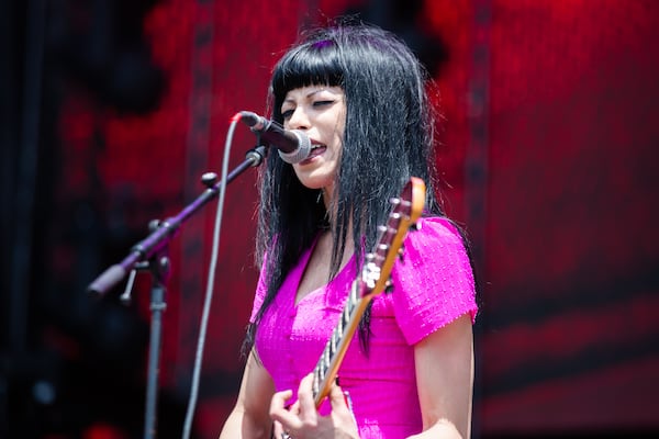
<svg viewBox="0 0 659 439">
<path fill-rule="evenodd" d="M 330 394 L 338 368 L 368 304 L 390 285 L 391 269 L 402 256 L 403 240 L 423 211 L 425 183 L 422 179 L 412 177 L 400 196 L 392 199 L 390 203 L 393 207 L 387 225 L 378 227 L 378 243 L 372 251 L 365 256 L 361 275 L 353 282 L 338 325 L 313 370 L 312 393 L 316 408 Z"/>
</svg>

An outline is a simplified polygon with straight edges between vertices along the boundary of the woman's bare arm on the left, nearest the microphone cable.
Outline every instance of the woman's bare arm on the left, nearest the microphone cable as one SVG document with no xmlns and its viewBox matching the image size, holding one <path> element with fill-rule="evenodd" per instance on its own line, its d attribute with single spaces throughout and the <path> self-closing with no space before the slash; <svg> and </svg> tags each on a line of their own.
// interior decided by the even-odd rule
<svg viewBox="0 0 659 439">
<path fill-rule="evenodd" d="M 235 407 L 224 423 L 220 439 L 270 438 L 271 419 L 268 415 L 275 383 L 252 350 Z"/>
</svg>

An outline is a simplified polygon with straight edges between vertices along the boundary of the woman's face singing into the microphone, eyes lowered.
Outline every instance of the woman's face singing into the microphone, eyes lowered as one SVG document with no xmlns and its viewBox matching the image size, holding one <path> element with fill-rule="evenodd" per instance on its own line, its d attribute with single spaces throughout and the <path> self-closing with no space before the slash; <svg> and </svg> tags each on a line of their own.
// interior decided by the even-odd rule
<svg viewBox="0 0 659 439">
<path fill-rule="evenodd" d="M 294 164 L 300 182 L 331 194 L 338 170 L 346 103 L 340 87 L 310 86 L 289 91 L 281 104 L 283 126 L 300 130 L 311 139 L 309 158 Z"/>
</svg>

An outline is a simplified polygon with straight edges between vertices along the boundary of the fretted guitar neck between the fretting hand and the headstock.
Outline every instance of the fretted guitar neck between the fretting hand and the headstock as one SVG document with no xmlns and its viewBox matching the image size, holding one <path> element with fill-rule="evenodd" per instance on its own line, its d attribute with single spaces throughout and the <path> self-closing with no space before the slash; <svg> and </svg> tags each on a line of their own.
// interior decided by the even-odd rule
<svg viewBox="0 0 659 439">
<path fill-rule="evenodd" d="M 343 358 L 348 350 L 350 340 L 368 303 L 372 296 L 361 295 L 362 283 L 359 280 L 353 282 L 350 294 L 340 315 L 338 325 L 334 328 L 332 337 L 325 345 L 316 367 L 313 370 L 313 396 L 316 408 L 321 405 L 325 396 L 330 394 L 334 379 Z"/>
</svg>

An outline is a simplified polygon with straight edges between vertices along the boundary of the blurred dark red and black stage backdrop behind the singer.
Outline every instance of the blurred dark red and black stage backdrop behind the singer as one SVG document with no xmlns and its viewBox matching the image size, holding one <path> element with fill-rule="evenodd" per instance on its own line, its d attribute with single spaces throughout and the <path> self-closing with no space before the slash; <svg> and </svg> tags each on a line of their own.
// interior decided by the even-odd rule
<svg viewBox="0 0 659 439">
<path fill-rule="evenodd" d="M 474 437 L 659 432 L 659 2 L 27 0 L 0 5 L 0 437 L 142 436 L 150 277 L 87 285 L 220 172 L 300 26 L 398 33 L 439 85 L 448 213 L 481 283 Z M 238 126 L 232 166 L 254 136 Z M 377 142 L 377 139 L 373 139 Z M 257 192 L 227 189 L 192 436 L 237 393 Z M 181 437 L 215 203 L 172 240 L 157 436 Z"/>
</svg>

